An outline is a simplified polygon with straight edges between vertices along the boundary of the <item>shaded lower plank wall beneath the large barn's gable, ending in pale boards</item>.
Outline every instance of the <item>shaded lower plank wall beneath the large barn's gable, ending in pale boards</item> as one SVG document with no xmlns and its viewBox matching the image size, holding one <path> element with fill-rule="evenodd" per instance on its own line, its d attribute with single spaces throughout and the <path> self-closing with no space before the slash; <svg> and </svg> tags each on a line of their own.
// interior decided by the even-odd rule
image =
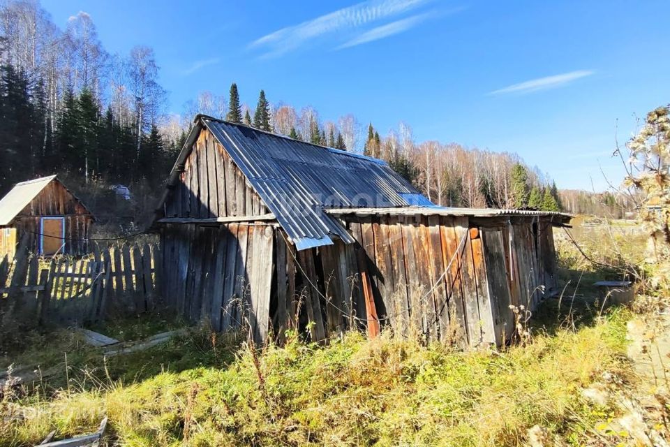
<svg viewBox="0 0 670 447">
<path fill-rule="evenodd" d="M 191 321 L 215 330 L 269 332 L 274 227 L 262 222 L 224 226 L 166 225 L 161 236 L 165 301 Z"/>
</svg>

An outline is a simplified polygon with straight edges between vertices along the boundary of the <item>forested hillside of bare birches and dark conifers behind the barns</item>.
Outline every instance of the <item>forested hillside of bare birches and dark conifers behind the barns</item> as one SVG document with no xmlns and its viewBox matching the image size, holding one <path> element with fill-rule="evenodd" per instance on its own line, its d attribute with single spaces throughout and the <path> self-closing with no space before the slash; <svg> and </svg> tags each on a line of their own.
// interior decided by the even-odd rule
<svg viewBox="0 0 670 447">
<path fill-rule="evenodd" d="M 157 191 L 202 112 L 385 159 L 439 205 L 561 207 L 553 180 L 516 154 L 417 142 L 403 122 L 384 132 L 369 121 L 374 117 L 323 119 L 312 107 L 269 101 L 265 91 L 251 108 L 237 85 L 224 95 L 202 91 L 181 114 L 170 114 L 153 50 L 138 45 L 110 54 L 87 13 L 60 29 L 37 1 L 6 1 L 0 32 L 0 193 L 50 173 L 66 175 L 75 189 L 96 182 Z"/>
</svg>

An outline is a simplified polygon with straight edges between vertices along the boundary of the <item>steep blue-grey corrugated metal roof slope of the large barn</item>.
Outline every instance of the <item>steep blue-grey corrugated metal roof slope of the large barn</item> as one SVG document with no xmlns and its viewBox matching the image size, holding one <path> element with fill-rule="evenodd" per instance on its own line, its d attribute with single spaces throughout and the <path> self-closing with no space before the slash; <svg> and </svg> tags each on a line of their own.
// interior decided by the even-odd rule
<svg viewBox="0 0 670 447">
<path fill-rule="evenodd" d="M 297 249 L 353 242 L 325 207 L 405 207 L 417 194 L 381 160 L 202 117 Z"/>
</svg>

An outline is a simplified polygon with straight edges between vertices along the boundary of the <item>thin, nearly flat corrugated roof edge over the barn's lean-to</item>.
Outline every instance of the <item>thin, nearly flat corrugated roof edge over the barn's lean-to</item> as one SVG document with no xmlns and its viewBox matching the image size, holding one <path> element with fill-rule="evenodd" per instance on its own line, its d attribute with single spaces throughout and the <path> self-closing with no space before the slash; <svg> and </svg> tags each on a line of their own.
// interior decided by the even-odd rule
<svg viewBox="0 0 670 447">
<path fill-rule="evenodd" d="M 497 217 L 497 216 L 556 216 L 562 220 L 572 219 L 571 214 L 555 211 L 534 210 L 499 210 L 497 208 L 455 208 L 440 206 L 410 206 L 404 208 L 349 208 L 329 209 L 328 214 L 341 216 L 343 214 L 357 214 L 359 216 L 371 216 L 375 214 L 391 214 L 396 216 L 466 216 L 466 217 Z"/>
</svg>

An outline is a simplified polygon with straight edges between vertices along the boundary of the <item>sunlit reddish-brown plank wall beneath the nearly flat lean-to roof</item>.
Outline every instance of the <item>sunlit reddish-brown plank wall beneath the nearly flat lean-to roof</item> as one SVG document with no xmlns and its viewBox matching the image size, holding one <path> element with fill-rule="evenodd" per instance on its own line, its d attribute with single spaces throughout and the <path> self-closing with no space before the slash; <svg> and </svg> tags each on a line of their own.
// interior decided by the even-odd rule
<svg viewBox="0 0 670 447">
<path fill-rule="evenodd" d="M 367 257 L 383 323 L 404 335 L 417 331 L 477 346 L 508 341 L 514 332 L 509 305 L 532 311 L 542 298 L 538 286 L 555 286 L 551 221 L 534 219 L 487 222 L 490 227 L 444 216 L 348 217 L 346 223 Z"/>
</svg>

